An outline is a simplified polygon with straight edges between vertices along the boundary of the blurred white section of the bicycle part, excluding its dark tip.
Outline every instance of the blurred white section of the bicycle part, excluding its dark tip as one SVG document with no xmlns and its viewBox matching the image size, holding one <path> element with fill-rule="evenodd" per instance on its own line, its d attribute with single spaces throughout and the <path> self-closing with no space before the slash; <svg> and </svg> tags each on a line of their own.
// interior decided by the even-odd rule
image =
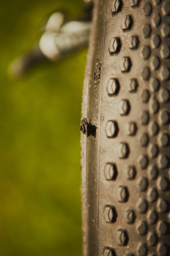
<svg viewBox="0 0 170 256">
<path fill-rule="evenodd" d="M 63 22 L 62 13 L 52 14 L 39 42 L 44 56 L 53 61 L 88 43 L 91 21 Z"/>
</svg>

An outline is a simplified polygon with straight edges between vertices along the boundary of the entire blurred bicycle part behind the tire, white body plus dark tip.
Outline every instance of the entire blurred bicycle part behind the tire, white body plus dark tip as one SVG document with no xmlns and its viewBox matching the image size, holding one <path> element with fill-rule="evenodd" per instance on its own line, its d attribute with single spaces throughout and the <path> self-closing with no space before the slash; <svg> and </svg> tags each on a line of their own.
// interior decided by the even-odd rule
<svg viewBox="0 0 170 256">
<path fill-rule="evenodd" d="M 77 20 L 67 21 L 63 13 L 53 13 L 48 19 L 39 43 L 11 63 L 10 75 L 19 77 L 37 62 L 57 61 L 64 55 L 87 45 L 93 3 L 92 0 L 84 0 L 84 2 L 84 13 Z"/>
</svg>

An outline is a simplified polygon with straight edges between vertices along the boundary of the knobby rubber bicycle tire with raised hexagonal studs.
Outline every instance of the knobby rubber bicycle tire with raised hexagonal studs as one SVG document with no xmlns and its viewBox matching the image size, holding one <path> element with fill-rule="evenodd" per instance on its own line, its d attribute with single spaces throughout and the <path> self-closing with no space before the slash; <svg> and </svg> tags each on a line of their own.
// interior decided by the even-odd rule
<svg viewBox="0 0 170 256">
<path fill-rule="evenodd" d="M 170 254 L 170 2 L 96 1 L 83 89 L 84 256 Z M 94 79 L 95 74 L 95 79 Z"/>
</svg>

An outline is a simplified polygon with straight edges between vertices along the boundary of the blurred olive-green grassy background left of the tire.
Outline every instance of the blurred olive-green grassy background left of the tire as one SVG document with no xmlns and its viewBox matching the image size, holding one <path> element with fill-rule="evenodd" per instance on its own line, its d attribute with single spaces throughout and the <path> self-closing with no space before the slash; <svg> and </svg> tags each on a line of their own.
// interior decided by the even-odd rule
<svg viewBox="0 0 170 256">
<path fill-rule="evenodd" d="M 51 13 L 82 0 L 2 2 L 0 255 L 81 255 L 80 112 L 87 49 L 12 79 Z"/>
</svg>

